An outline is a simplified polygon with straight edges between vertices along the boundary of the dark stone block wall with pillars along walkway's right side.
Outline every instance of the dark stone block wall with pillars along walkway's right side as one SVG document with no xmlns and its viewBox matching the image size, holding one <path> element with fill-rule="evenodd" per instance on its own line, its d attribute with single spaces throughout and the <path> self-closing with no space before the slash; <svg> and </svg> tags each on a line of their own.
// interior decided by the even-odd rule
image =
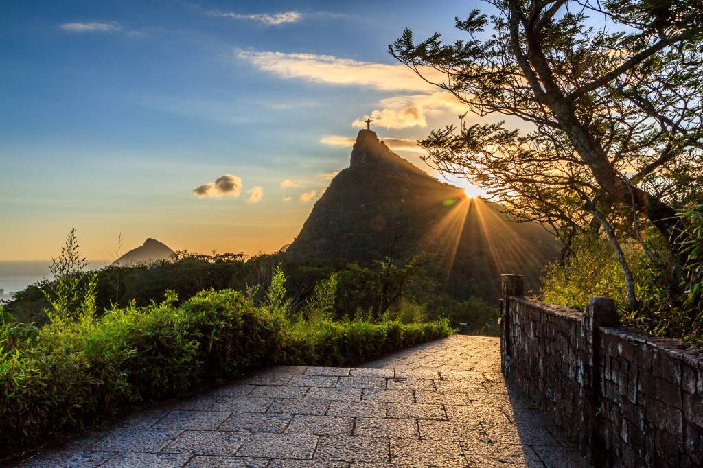
<svg viewBox="0 0 703 468">
<path fill-rule="evenodd" d="M 503 275 L 501 363 L 595 466 L 703 465 L 703 352 L 586 310 L 522 297 Z"/>
</svg>

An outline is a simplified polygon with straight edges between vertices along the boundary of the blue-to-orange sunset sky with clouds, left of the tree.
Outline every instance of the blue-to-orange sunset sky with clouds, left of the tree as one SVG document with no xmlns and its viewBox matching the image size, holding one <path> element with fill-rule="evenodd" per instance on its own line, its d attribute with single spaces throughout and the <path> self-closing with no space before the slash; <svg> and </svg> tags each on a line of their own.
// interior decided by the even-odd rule
<svg viewBox="0 0 703 468">
<path fill-rule="evenodd" d="M 477 6 L 4 2 L 0 260 L 56 256 L 71 228 L 89 259 L 114 259 L 119 235 L 123 252 L 146 238 L 275 252 L 348 167 L 367 116 L 431 172 L 414 142 L 465 108 L 387 45 L 405 27 L 460 39 L 455 16 Z"/>
</svg>

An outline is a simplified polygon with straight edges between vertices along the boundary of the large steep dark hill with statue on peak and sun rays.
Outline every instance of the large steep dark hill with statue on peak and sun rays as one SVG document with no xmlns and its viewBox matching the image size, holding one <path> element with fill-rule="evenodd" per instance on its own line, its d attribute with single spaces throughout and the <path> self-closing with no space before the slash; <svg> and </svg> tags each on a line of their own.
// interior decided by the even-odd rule
<svg viewBox="0 0 703 468">
<path fill-rule="evenodd" d="M 436 252 L 447 292 L 495 300 L 501 273 L 522 274 L 536 290 L 557 242 L 539 224 L 517 223 L 500 205 L 467 197 L 361 130 L 349 168 L 335 176 L 286 252 L 361 264 L 391 252 L 396 259 Z"/>
</svg>

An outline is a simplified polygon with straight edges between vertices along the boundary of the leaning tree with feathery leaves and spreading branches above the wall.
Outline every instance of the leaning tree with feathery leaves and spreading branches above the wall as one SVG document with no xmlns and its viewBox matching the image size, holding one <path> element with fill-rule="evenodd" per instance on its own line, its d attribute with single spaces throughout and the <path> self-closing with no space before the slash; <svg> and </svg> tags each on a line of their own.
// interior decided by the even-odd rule
<svg viewBox="0 0 703 468">
<path fill-rule="evenodd" d="M 462 121 L 421 142 L 427 160 L 489 188 L 512 212 L 547 223 L 567 242 L 603 221 L 621 229 L 630 223 L 631 233 L 647 221 L 673 263 L 685 265 L 676 207 L 703 181 L 699 4 L 488 3 L 495 14 L 487 39 L 489 18 L 475 10 L 456 19 L 465 41 L 443 44 L 436 33 L 415 44 L 405 30 L 389 52 L 470 112 L 520 117 L 529 131 Z M 427 79 L 424 67 L 444 81 Z"/>
</svg>

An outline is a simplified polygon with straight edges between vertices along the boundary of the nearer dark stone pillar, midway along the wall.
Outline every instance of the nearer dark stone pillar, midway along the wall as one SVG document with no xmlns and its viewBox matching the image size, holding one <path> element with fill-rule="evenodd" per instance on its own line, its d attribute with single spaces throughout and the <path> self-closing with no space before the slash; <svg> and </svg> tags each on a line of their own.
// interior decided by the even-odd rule
<svg viewBox="0 0 703 468">
<path fill-rule="evenodd" d="M 602 356 L 600 349 L 600 327 L 620 325 L 615 301 L 609 297 L 591 297 L 583 312 L 583 333 L 588 351 L 588 362 L 583 376 L 586 398 L 583 405 L 583 423 L 586 434 L 583 438 L 583 453 L 596 467 L 610 464 L 608 451 L 603 440 L 600 418 L 603 417 L 600 402 L 602 399 Z"/>
</svg>

